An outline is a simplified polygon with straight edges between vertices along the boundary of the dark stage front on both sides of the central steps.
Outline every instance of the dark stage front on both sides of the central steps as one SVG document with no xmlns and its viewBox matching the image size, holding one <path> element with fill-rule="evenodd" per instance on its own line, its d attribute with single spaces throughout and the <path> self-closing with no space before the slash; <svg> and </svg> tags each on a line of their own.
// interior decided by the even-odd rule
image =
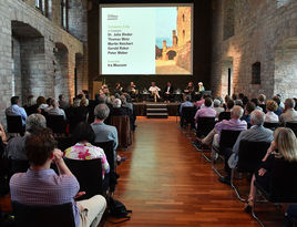
<svg viewBox="0 0 297 227">
<path fill-rule="evenodd" d="M 157 104 L 163 104 L 163 105 L 166 105 L 167 106 L 167 110 L 168 110 L 168 116 L 176 116 L 178 115 L 178 109 L 180 109 L 180 105 L 181 103 L 177 102 L 177 103 L 162 103 L 162 102 L 158 102 L 158 103 L 154 103 L 154 102 L 135 102 L 133 103 L 135 105 L 135 112 L 136 112 L 136 116 L 146 116 L 146 104 L 154 104 L 154 105 L 157 105 Z"/>
</svg>

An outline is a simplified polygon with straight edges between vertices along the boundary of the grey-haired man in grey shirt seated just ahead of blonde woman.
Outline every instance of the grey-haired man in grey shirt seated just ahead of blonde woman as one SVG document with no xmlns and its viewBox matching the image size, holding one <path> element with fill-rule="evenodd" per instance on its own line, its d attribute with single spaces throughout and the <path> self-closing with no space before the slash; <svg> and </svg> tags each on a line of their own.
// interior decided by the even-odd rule
<svg viewBox="0 0 297 227">
<path fill-rule="evenodd" d="M 226 177 L 221 177 L 219 182 L 224 184 L 229 184 L 231 180 L 231 168 L 234 168 L 237 164 L 237 154 L 239 151 L 240 141 L 250 141 L 250 142 L 268 142 L 270 143 L 274 140 L 273 131 L 265 128 L 263 126 L 265 122 L 265 113 L 255 110 L 250 113 L 250 124 L 253 125 L 249 130 L 240 132 L 238 135 L 232 153 L 225 154 L 225 171 L 227 173 Z M 226 151 L 228 152 L 228 151 Z M 233 154 L 233 155 L 232 155 Z"/>
</svg>

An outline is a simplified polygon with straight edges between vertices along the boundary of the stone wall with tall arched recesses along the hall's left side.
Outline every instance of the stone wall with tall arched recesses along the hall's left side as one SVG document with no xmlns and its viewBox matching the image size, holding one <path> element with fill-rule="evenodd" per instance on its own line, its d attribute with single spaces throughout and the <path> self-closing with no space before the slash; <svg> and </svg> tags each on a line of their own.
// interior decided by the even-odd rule
<svg viewBox="0 0 297 227">
<path fill-rule="evenodd" d="M 6 125 L 4 110 L 10 105 L 10 97 L 13 93 L 12 62 L 17 63 L 14 69 L 19 65 L 22 68 L 21 83 L 14 83 L 14 86 L 17 85 L 14 94 L 20 94 L 19 87 L 22 86 L 22 93 L 27 95 L 59 95 L 54 93 L 55 43 L 63 43 L 69 53 L 68 72 L 62 82 L 63 93 L 69 99 L 74 95 L 75 54 L 83 55 L 83 43 L 61 29 L 60 22 L 58 22 L 60 8 L 52 9 L 53 20 L 51 21 L 40 13 L 32 2 L 29 0 L 0 1 L 0 122 L 3 125 Z M 58 2 L 59 0 L 52 0 L 52 6 L 59 6 Z M 16 22 L 20 22 L 21 25 L 16 27 Z M 13 33 L 17 32 L 21 35 L 18 35 L 18 42 L 16 42 L 20 47 L 20 60 L 12 59 L 12 30 Z M 30 37 L 32 32 L 39 34 L 39 38 Z M 17 72 L 14 72 L 14 81 L 16 76 L 20 78 Z M 83 78 L 85 79 L 85 76 Z M 88 80 L 84 85 L 88 86 Z"/>
</svg>

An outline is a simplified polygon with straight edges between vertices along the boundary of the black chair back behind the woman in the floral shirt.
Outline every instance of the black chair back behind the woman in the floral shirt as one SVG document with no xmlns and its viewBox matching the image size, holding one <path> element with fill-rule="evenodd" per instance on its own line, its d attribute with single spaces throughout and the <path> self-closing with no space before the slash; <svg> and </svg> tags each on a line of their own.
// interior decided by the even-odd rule
<svg viewBox="0 0 297 227">
<path fill-rule="evenodd" d="M 80 183 L 80 190 L 85 195 L 78 200 L 89 199 L 95 195 L 102 195 L 102 163 L 95 159 L 70 159 L 64 158 L 66 166 Z"/>
</svg>

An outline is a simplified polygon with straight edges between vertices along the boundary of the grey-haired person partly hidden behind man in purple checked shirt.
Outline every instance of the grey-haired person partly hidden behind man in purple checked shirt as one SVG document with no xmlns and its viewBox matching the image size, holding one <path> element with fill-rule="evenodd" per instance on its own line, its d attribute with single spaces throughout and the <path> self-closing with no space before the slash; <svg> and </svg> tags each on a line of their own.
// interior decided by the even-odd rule
<svg viewBox="0 0 297 227">
<path fill-rule="evenodd" d="M 31 134 L 47 128 L 47 120 L 41 114 L 31 114 L 25 120 L 25 132 L 23 136 L 17 136 L 9 141 L 6 154 L 11 159 L 27 159 L 24 151 L 24 142 Z"/>
</svg>

